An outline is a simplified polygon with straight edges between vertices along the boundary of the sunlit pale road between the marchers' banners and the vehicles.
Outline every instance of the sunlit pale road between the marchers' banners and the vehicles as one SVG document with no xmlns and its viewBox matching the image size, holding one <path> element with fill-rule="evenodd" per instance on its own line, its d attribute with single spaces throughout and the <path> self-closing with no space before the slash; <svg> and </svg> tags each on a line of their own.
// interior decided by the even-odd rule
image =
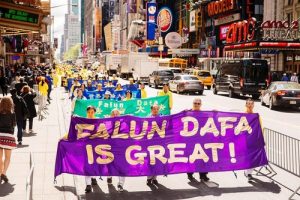
<svg viewBox="0 0 300 200">
<path fill-rule="evenodd" d="M 157 95 L 157 89 L 146 86 L 146 90 L 149 97 Z M 205 90 L 203 95 L 173 93 L 174 106 L 172 113 L 177 113 L 184 109 L 190 109 L 195 97 L 201 98 L 203 110 L 229 112 L 244 112 L 245 101 L 249 98 L 247 96 L 229 98 L 226 93 L 214 95 L 212 90 Z M 254 111 L 260 114 L 263 127 L 300 139 L 299 108 L 279 108 L 277 110 L 270 110 L 268 107 L 262 106 L 260 100 L 257 100 L 255 102 Z"/>
</svg>

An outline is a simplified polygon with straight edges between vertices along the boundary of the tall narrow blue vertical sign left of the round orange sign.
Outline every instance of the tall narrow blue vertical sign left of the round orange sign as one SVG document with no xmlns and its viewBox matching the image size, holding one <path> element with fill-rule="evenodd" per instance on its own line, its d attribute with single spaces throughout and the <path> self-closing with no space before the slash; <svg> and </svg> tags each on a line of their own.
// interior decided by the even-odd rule
<svg viewBox="0 0 300 200">
<path fill-rule="evenodd" d="M 147 40 L 155 40 L 156 14 L 156 3 L 147 3 Z"/>
</svg>

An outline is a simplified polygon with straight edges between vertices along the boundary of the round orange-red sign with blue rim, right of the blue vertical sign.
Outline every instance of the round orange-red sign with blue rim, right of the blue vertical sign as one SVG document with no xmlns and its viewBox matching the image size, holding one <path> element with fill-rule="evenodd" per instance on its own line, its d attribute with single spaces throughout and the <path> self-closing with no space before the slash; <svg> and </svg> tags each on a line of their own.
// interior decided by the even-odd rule
<svg viewBox="0 0 300 200">
<path fill-rule="evenodd" d="M 165 33 L 171 28 L 173 22 L 173 15 L 169 8 L 161 8 L 157 15 L 157 25 L 161 32 Z"/>
</svg>

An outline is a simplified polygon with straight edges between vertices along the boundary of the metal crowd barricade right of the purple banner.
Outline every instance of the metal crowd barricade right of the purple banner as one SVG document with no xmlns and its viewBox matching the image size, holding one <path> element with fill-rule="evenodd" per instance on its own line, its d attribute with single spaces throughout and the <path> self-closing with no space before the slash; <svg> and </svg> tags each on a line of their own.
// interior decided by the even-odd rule
<svg viewBox="0 0 300 200">
<path fill-rule="evenodd" d="M 300 140 L 268 128 L 264 129 L 264 139 L 269 162 L 300 177 Z M 289 199 L 299 190 L 300 186 Z"/>
</svg>

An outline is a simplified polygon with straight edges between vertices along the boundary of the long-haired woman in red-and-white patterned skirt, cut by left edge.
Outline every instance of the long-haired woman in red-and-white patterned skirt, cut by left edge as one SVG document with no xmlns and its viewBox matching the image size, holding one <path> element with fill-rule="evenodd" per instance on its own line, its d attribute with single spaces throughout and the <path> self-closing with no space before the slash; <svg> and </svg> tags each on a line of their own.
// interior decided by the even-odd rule
<svg viewBox="0 0 300 200">
<path fill-rule="evenodd" d="M 13 100 L 10 97 L 3 97 L 0 100 L 0 183 L 8 182 L 6 172 L 10 163 L 11 150 L 16 148 L 15 126 L 16 116 Z"/>
</svg>

